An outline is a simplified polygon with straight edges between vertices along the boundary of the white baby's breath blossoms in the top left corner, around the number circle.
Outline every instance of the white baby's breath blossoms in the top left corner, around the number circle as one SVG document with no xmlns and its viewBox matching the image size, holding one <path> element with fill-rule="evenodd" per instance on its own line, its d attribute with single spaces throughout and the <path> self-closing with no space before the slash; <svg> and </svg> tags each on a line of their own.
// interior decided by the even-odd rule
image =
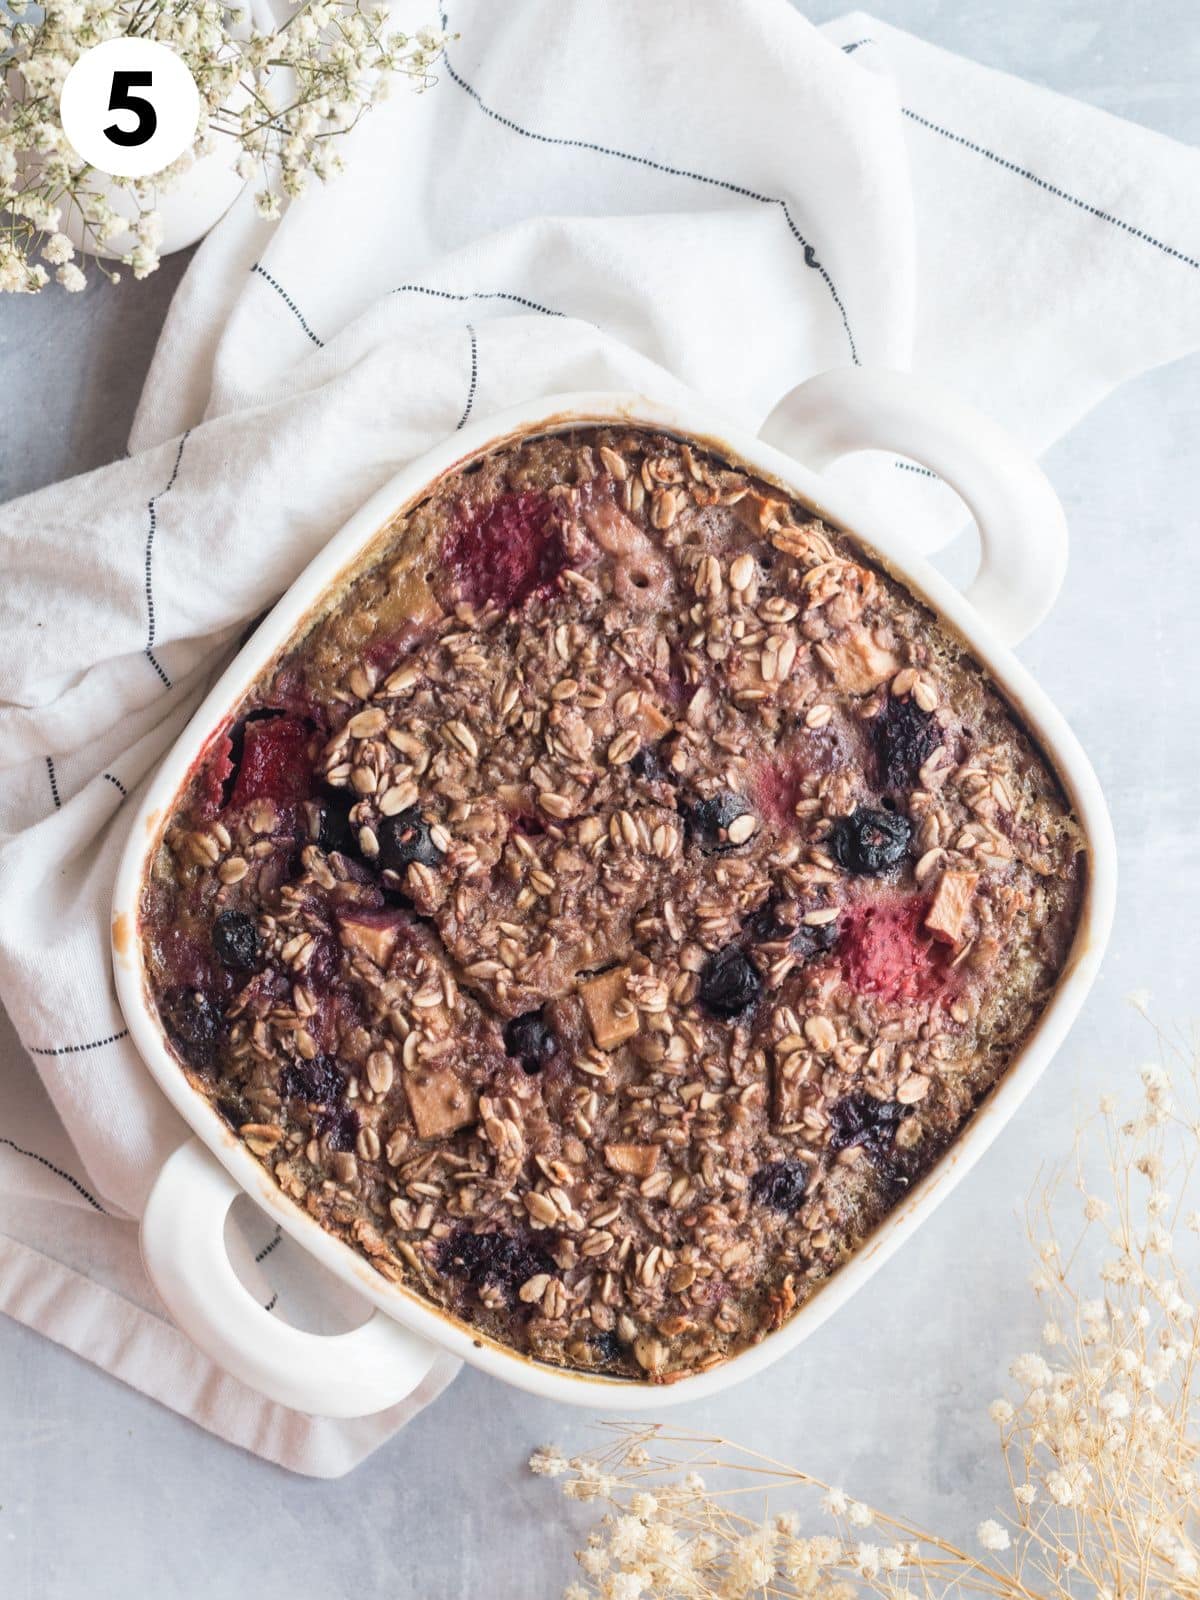
<svg viewBox="0 0 1200 1600">
<path fill-rule="evenodd" d="M 170 45 L 190 69 L 202 106 L 195 144 L 171 168 L 114 179 L 133 219 L 101 192 L 58 109 L 78 56 L 130 34 Z M 261 184 L 259 214 L 280 216 L 314 178 L 338 176 L 336 136 L 384 99 L 397 77 L 419 88 L 432 82 L 443 43 L 434 29 L 392 30 L 389 8 L 362 0 L 301 0 L 275 34 L 254 30 L 222 0 L 8 0 L 0 8 L 0 291 L 35 293 L 50 269 L 66 290 L 85 288 L 66 218 L 85 258 L 130 235 L 120 259 L 147 277 L 158 266 L 158 197 L 222 138 L 242 147 L 238 174 Z"/>
</svg>

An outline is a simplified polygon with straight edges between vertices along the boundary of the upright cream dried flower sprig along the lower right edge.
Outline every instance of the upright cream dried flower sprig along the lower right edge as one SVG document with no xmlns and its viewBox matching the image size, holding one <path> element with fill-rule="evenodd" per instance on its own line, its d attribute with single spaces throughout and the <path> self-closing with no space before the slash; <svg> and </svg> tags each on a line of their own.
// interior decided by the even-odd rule
<svg viewBox="0 0 1200 1600">
<path fill-rule="evenodd" d="M 1178 1112 L 1160 1062 L 1138 1078 L 1136 1115 L 1122 1120 L 1115 1096 L 1099 1106 L 1112 1198 L 1077 1181 L 1082 1227 L 1069 1250 L 1045 1208 L 1035 1288 L 1054 1309 L 1042 1333 L 1050 1357 L 1019 1355 L 1010 1376 L 1021 1398 L 994 1402 L 990 1416 L 1043 1563 L 1086 1571 L 1098 1594 L 1195 1594 L 1200 1314 L 1168 1224 L 1194 1229 L 1182 1202 L 1200 1126 Z M 1190 1080 L 1195 1090 L 1195 1066 Z M 1064 1259 L 1091 1261 L 1104 1294 L 1078 1294 Z M 989 1544 L 992 1526 L 981 1525 L 981 1542 L 1002 1549 Z"/>
</svg>

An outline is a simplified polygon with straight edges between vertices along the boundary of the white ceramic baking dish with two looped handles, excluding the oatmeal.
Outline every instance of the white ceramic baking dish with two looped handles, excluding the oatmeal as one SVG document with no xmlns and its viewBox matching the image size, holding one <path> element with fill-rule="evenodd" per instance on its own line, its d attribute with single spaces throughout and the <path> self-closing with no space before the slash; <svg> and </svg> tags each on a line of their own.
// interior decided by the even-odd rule
<svg viewBox="0 0 1200 1600">
<path fill-rule="evenodd" d="M 854 534 L 958 630 L 1018 707 L 1069 790 L 1090 846 L 1082 920 L 1054 997 L 958 1141 L 790 1322 L 725 1365 L 670 1387 L 533 1362 L 386 1282 L 347 1245 L 323 1232 L 275 1187 L 208 1101 L 190 1088 L 149 998 L 138 936 L 144 872 L 178 790 L 213 731 L 376 533 L 464 459 L 523 434 L 614 419 L 710 443 Z M 971 507 L 982 563 L 966 595 L 906 547 L 886 523 L 866 515 L 851 493 L 819 475 L 840 454 L 875 448 L 931 467 Z M 142 1219 L 146 1267 L 179 1326 L 245 1382 L 286 1405 L 328 1416 L 357 1416 L 395 1403 L 421 1382 L 443 1349 L 520 1389 L 626 1413 L 699 1400 L 794 1350 L 910 1237 L 997 1138 L 1062 1043 L 1096 976 L 1115 891 L 1112 826 L 1075 736 L 1010 653 L 1045 616 L 1064 570 L 1062 510 L 1034 462 L 994 424 L 899 373 L 846 370 L 814 378 L 776 408 L 758 438 L 726 426 L 699 402 L 664 405 L 632 394 L 562 395 L 475 422 L 400 472 L 330 541 L 221 677 L 150 784 L 117 877 L 112 947 L 122 1008 L 147 1067 L 195 1133 L 165 1163 Z M 370 1301 L 374 1315 L 352 1333 L 330 1338 L 290 1328 L 269 1315 L 243 1290 L 226 1254 L 224 1221 L 240 1190 Z"/>
</svg>

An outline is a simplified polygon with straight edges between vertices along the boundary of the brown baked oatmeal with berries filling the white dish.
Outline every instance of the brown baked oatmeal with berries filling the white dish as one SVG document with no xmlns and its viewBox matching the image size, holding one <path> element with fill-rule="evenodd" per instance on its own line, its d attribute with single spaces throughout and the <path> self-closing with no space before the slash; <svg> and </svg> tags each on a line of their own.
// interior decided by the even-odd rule
<svg viewBox="0 0 1200 1600">
<path fill-rule="evenodd" d="M 670 1381 L 962 1130 L 1085 877 L 1013 710 L 853 539 L 578 427 L 379 534 L 210 742 L 141 933 L 192 1085 L 323 1227 Z"/>
</svg>

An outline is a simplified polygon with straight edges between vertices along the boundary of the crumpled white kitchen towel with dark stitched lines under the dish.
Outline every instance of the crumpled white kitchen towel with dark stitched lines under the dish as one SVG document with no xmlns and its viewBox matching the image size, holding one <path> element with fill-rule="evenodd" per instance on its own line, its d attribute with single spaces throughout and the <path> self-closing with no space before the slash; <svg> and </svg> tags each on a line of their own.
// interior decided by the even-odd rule
<svg viewBox="0 0 1200 1600">
<path fill-rule="evenodd" d="M 168 1382 L 179 1338 L 120 1221 L 182 1126 L 114 1000 L 114 864 L 242 626 L 405 461 L 528 397 L 690 389 L 757 427 L 822 368 L 912 366 L 1042 451 L 1200 346 L 1195 150 L 786 0 L 446 22 L 437 86 L 373 112 L 338 184 L 277 227 L 246 195 L 202 246 L 130 458 L 0 509 L 0 998 L 74 1141 L 10 1051 L 0 1307 L 314 1474 L 413 1408 L 285 1427 L 211 1373 Z M 910 464 L 838 470 L 926 547 L 958 525 Z"/>
</svg>

